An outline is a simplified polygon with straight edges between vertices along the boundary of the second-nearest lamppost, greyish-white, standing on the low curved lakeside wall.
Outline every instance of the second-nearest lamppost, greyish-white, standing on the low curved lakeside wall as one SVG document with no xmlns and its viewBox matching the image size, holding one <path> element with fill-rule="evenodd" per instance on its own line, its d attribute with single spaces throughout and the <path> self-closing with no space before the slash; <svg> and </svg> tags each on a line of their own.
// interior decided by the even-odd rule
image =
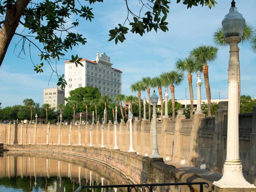
<svg viewBox="0 0 256 192">
<path fill-rule="evenodd" d="M 158 96 L 156 95 L 156 92 L 154 90 L 153 95 L 150 97 L 151 104 L 153 105 L 153 114 L 152 114 L 152 120 L 153 120 L 153 149 L 152 149 L 152 155 L 150 158 L 161 158 L 161 156 L 158 153 L 157 148 L 157 132 L 156 132 L 156 104 L 158 102 Z"/>
</svg>

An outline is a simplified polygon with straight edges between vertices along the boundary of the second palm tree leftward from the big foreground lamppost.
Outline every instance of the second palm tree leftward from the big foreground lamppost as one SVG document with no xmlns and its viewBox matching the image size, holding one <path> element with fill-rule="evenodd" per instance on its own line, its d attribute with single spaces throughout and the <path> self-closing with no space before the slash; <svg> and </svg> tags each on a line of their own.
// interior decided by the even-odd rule
<svg viewBox="0 0 256 192">
<path fill-rule="evenodd" d="M 184 60 L 179 59 L 176 64 L 176 69 L 180 72 L 188 72 L 188 87 L 189 87 L 189 96 L 190 96 L 190 118 L 193 116 L 193 105 L 194 105 L 194 93 L 192 85 L 192 74 L 196 71 L 202 71 L 202 65 L 191 57 L 185 58 Z"/>
</svg>

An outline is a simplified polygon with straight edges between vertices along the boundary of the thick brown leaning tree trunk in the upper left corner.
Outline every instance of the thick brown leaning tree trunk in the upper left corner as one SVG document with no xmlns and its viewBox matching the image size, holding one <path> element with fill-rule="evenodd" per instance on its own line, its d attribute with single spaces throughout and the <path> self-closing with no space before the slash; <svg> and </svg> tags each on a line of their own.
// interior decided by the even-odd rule
<svg viewBox="0 0 256 192">
<path fill-rule="evenodd" d="M 19 25 L 20 17 L 28 6 L 30 0 L 17 0 L 15 4 L 9 4 L 6 8 L 4 24 L 0 31 L 0 66 L 3 63 L 5 53 Z"/>
</svg>

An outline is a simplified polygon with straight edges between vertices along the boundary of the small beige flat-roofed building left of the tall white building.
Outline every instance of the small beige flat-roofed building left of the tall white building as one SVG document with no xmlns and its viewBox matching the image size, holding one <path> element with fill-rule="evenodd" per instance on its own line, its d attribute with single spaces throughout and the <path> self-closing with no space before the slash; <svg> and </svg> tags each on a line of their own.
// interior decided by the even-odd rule
<svg viewBox="0 0 256 192">
<path fill-rule="evenodd" d="M 51 107 L 57 106 L 59 103 L 64 103 L 65 90 L 61 89 L 60 86 L 57 88 L 44 88 L 44 104 L 48 103 Z"/>
</svg>

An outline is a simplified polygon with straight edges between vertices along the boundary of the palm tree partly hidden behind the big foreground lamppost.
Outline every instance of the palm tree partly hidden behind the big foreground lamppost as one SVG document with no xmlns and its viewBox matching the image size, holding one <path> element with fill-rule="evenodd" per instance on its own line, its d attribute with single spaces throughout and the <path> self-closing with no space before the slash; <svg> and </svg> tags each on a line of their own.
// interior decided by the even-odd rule
<svg viewBox="0 0 256 192">
<path fill-rule="evenodd" d="M 223 34 L 223 28 L 218 28 L 216 30 L 216 32 L 213 34 L 213 41 L 215 42 L 216 45 L 219 46 L 228 46 L 228 44 L 226 43 L 226 38 L 224 37 Z M 241 43 L 244 44 L 245 42 L 250 41 L 251 44 L 251 48 L 253 52 L 256 52 L 256 35 L 254 32 L 254 28 L 249 25 L 248 23 L 244 24 L 244 34 L 241 38 Z M 255 42 L 255 44 L 253 45 L 253 41 Z M 253 48 L 254 47 L 254 48 Z M 240 81 L 240 62 L 239 62 L 239 47 L 237 46 L 237 62 L 238 62 L 238 68 L 237 68 L 237 72 L 238 72 L 238 84 L 237 84 L 237 94 L 238 94 L 238 111 L 240 111 L 240 94 L 241 94 L 241 81 Z"/>
</svg>

